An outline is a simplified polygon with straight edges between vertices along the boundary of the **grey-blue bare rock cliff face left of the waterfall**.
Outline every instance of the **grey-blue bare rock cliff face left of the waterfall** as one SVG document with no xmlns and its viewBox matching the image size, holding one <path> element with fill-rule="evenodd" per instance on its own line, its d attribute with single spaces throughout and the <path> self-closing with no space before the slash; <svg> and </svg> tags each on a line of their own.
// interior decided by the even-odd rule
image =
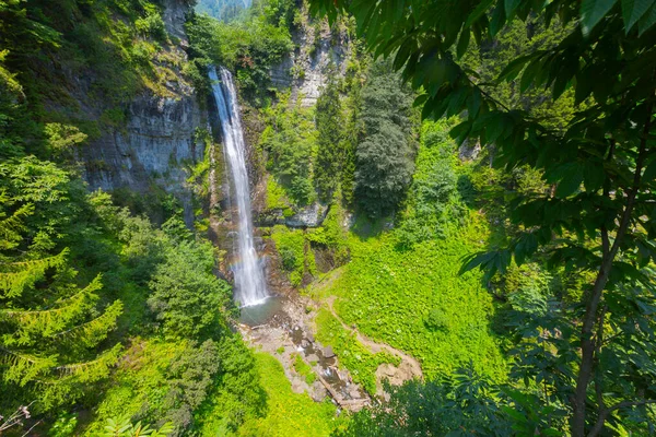
<svg viewBox="0 0 656 437">
<path fill-rule="evenodd" d="M 125 126 L 106 128 L 82 152 L 84 178 L 91 189 L 129 188 L 139 193 L 162 189 L 181 201 L 185 220 L 192 222 L 191 189 L 187 169 L 202 161 L 204 144 L 198 128 L 208 128 L 194 87 L 180 64 L 187 60 L 184 24 L 191 5 L 187 0 L 163 1 L 163 20 L 172 39 L 167 52 L 180 62 L 168 66 L 175 75 L 159 95 L 144 91 L 129 103 Z"/>
</svg>

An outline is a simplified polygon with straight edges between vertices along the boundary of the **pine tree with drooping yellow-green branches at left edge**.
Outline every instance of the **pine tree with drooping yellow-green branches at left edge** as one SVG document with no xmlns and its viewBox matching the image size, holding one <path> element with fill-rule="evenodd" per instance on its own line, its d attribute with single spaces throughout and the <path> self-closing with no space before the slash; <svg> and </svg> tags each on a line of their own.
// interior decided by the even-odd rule
<svg viewBox="0 0 656 437">
<path fill-rule="evenodd" d="M 35 208 L 35 200 L 70 200 L 57 184 L 49 192 L 12 192 L 21 185 L 21 164 L 0 168 L 9 176 L 0 188 L 0 408 L 36 401 L 38 412 L 74 401 L 87 383 L 108 375 L 120 344 L 102 352 L 98 345 L 115 327 L 122 304 L 115 300 L 101 309 L 101 276 L 80 287 L 69 250 L 52 250 L 48 233 L 33 228 L 45 223 L 39 215 L 47 211 Z M 47 186 L 59 180 L 54 175 L 65 177 L 33 172 L 31 184 Z"/>
</svg>

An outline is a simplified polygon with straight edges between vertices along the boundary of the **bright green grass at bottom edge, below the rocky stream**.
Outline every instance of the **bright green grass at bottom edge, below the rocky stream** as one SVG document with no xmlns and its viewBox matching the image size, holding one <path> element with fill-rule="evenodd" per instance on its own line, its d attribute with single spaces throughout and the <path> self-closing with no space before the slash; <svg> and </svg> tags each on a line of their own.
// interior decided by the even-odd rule
<svg viewBox="0 0 656 437">
<path fill-rule="evenodd" d="M 307 393 L 294 393 L 282 366 L 269 354 L 256 353 L 257 366 L 267 392 L 267 415 L 248 421 L 241 436 L 323 437 L 329 436 L 343 420 L 328 400 L 314 402 Z"/>
</svg>

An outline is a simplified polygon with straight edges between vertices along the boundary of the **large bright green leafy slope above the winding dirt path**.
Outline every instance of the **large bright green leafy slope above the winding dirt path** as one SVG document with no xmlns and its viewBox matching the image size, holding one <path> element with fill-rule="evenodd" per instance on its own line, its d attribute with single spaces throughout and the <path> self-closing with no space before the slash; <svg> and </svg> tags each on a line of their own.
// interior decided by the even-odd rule
<svg viewBox="0 0 656 437">
<path fill-rule="evenodd" d="M 417 357 L 427 378 L 470 361 L 478 371 L 503 378 L 505 362 L 489 328 L 492 298 L 478 272 L 458 275 L 461 258 L 479 250 L 487 235 L 484 218 L 475 212 L 446 238 L 407 251 L 397 249 L 394 232 L 364 239 L 351 234 L 351 262 L 319 293 L 338 296 L 335 309 L 349 326 Z M 429 319 L 435 310 L 446 320 L 437 329 Z M 328 316 L 317 318 L 319 332 L 333 330 Z"/>
</svg>

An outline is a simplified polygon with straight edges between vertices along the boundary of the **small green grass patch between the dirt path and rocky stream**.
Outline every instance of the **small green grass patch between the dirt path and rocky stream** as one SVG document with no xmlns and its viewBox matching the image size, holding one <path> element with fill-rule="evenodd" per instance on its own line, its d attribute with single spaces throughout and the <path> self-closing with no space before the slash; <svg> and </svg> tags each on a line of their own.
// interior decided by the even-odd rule
<svg viewBox="0 0 656 437">
<path fill-rule="evenodd" d="M 339 357 L 339 363 L 348 368 L 355 383 L 362 385 L 370 393 L 376 392 L 376 369 L 385 363 L 398 366 L 400 358 L 385 352 L 373 354 L 363 346 L 355 334 L 347 331 L 330 311 L 321 308 L 316 318 L 317 340 L 330 344 Z"/>
</svg>

